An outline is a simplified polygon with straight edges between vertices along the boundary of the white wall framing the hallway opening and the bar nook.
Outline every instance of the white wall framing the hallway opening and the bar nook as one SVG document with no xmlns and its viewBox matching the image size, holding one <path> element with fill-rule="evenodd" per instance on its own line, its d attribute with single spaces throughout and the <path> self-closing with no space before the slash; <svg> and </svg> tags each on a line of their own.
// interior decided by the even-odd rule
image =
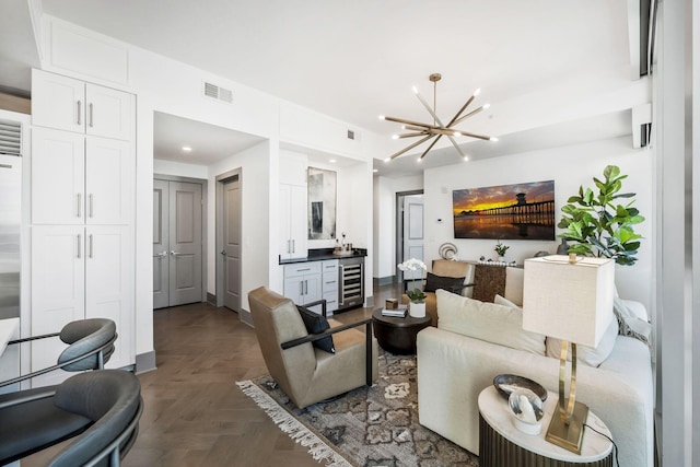
<svg viewBox="0 0 700 467">
<path fill-rule="evenodd" d="M 124 90 L 137 95 L 137 185 L 136 185 L 136 353 L 153 351 L 153 271 L 152 271 L 152 226 L 153 226 L 153 115 L 155 112 L 231 128 L 236 131 L 265 138 L 266 144 L 250 151 L 232 155 L 207 173 L 209 177 L 210 209 L 215 197 L 213 182 L 217 174 L 229 168 L 243 167 L 244 208 L 244 289 L 247 290 L 268 283 L 280 285 L 277 256 L 277 199 L 279 183 L 279 145 L 282 133 L 287 140 L 298 145 L 307 145 L 315 150 L 343 154 L 347 157 L 364 161 L 371 165 L 372 154 L 382 152 L 375 147 L 381 140 L 377 136 L 352 128 L 361 138 L 348 141 L 350 127 L 339 120 L 292 105 L 269 94 L 223 79 L 195 67 L 163 56 L 133 47 L 129 44 L 96 34 L 92 31 L 57 20 L 50 15 L 42 19 L 42 68 L 56 73 L 70 75 L 89 82 Z M 70 40 L 65 37 L 70 36 Z M 86 57 L 95 52 L 103 54 L 104 60 L 95 62 Z M 106 54 L 106 56 L 104 56 Z M 110 60 L 112 54 L 115 60 Z M 115 65 L 116 63 L 116 65 Z M 104 66 L 103 66 L 104 65 Z M 203 82 L 211 82 L 230 89 L 233 104 L 225 104 L 202 95 Z M 283 114 L 283 121 L 281 115 Z M 295 137 L 299 128 L 314 128 Z M 319 128 L 328 131 L 318 131 Z M 267 150 L 265 149 L 267 148 Z M 170 175 L 195 176 L 202 174 L 201 166 L 176 166 L 158 163 L 158 168 Z M 360 175 L 360 173 L 358 173 Z M 359 219 L 358 213 L 368 215 L 372 209 L 372 195 L 369 189 L 371 173 L 366 171 L 366 196 L 358 197 L 351 203 L 351 220 Z M 144 202 L 148 200 L 148 202 Z M 260 220 L 261 219 L 261 220 Z M 208 233 L 214 234 L 213 217 L 209 211 Z M 362 225 L 362 222 L 359 223 Z M 371 223 L 370 223 L 371 224 Z M 250 229 L 246 231 L 246 229 Z M 359 229 L 357 244 L 369 243 L 368 229 Z M 364 237 L 360 235 L 364 234 Z M 214 267 L 212 248 L 209 248 L 209 282 L 207 289 L 213 292 L 211 270 Z M 281 290 L 281 289 L 280 289 Z M 243 305 L 247 306 L 244 299 Z"/>
</svg>

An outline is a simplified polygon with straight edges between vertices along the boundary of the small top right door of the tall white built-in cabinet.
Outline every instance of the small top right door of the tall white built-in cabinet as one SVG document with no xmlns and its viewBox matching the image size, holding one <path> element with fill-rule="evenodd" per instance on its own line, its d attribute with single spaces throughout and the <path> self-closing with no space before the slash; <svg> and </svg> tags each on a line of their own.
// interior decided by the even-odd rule
<svg viewBox="0 0 700 467">
<path fill-rule="evenodd" d="M 132 95 L 85 84 L 85 132 L 106 138 L 127 140 L 131 137 Z"/>
</svg>

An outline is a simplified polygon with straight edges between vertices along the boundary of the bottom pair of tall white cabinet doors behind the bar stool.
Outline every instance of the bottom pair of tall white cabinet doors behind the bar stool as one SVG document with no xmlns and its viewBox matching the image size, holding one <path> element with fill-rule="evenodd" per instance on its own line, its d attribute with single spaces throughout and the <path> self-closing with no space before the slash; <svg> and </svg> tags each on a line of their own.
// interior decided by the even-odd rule
<svg viewBox="0 0 700 467">
<path fill-rule="evenodd" d="M 32 227 L 31 334 L 57 332 L 75 319 L 104 317 L 119 337 L 107 367 L 133 363 L 133 236 L 113 225 L 35 225 Z M 32 371 L 56 364 L 58 338 L 32 343 Z M 63 371 L 35 378 L 33 386 L 57 384 Z"/>
</svg>

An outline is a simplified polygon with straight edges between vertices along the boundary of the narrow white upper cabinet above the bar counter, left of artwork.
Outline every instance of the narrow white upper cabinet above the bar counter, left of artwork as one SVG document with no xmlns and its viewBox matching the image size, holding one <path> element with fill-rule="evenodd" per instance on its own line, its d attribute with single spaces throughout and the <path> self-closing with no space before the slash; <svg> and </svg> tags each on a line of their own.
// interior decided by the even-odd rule
<svg viewBox="0 0 700 467">
<path fill-rule="evenodd" d="M 306 186 L 280 185 L 280 259 L 308 255 Z"/>
</svg>

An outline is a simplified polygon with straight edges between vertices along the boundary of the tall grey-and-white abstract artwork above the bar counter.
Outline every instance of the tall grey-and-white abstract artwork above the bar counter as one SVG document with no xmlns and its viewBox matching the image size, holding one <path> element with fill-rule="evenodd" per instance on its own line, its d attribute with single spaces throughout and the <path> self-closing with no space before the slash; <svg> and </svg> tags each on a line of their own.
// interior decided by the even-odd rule
<svg viewBox="0 0 700 467">
<path fill-rule="evenodd" d="M 308 167 L 308 240 L 336 237 L 336 173 Z"/>
</svg>

